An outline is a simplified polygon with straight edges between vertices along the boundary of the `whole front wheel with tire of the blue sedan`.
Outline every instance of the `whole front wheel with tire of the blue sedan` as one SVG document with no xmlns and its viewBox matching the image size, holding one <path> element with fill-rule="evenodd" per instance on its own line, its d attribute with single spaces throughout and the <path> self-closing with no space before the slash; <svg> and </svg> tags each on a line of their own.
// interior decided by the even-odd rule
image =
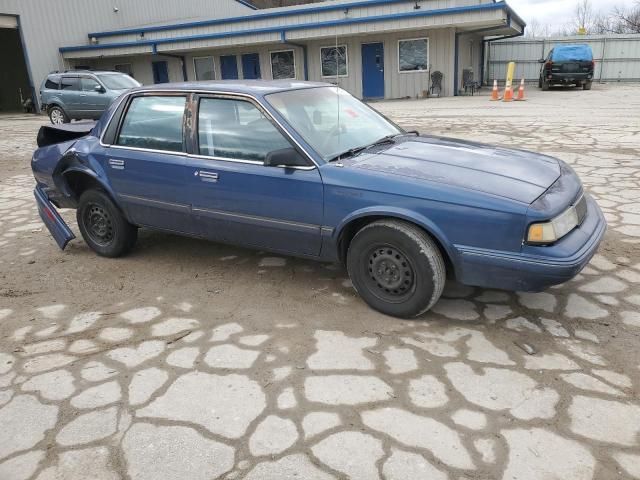
<svg viewBox="0 0 640 480">
<path fill-rule="evenodd" d="M 356 233 L 347 251 L 347 270 L 370 307 L 401 318 L 429 310 L 446 280 L 444 260 L 433 239 L 398 220 L 379 220 Z"/>
</svg>

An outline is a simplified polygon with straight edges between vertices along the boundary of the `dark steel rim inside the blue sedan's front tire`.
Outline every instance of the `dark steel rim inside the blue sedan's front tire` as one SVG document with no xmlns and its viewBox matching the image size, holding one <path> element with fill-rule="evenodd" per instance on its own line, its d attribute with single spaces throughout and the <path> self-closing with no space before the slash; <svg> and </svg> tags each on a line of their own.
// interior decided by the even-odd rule
<svg viewBox="0 0 640 480">
<path fill-rule="evenodd" d="M 383 300 L 398 302 L 412 293 L 415 275 L 405 255 L 392 246 L 378 246 L 369 252 L 368 273 L 373 293 Z"/>
</svg>

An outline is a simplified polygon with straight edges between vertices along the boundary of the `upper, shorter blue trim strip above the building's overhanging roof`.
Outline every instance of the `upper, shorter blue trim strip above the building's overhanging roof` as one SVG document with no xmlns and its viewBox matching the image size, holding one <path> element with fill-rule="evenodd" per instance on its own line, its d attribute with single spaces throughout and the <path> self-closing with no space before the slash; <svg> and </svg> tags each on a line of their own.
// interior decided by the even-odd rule
<svg viewBox="0 0 640 480">
<path fill-rule="evenodd" d="M 212 25 L 224 25 L 229 23 L 246 22 L 250 20 L 265 20 L 269 18 L 288 17 L 291 15 L 304 15 L 309 13 L 331 12 L 336 10 L 349 10 L 359 7 L 373 7 L 378 5 L 391 5 L 394 3 L 412 2 L 414 0 L 358 0 L 349 3 L 332 3 L 311 8 L 291 8 L 288 10 L 264 11 L 250 16 L 215 18 L 211 20 L 199 20 L 196 22 L 175 23 L 172 25 L 156 25 L 152 27 L 127 28 L 124 30 L 112 30 L 106 32 L 89 33 L 89 38 L 114 37 L 118 35 L 140 34 L 148 32 L 162 32 L 166 30 L 183 30 L 185 28 L 209 27 Z M 244 2 L 242 2 L 244 3 Z M 255 10 L 255 7 L 254 7 Z"/>
</svg>

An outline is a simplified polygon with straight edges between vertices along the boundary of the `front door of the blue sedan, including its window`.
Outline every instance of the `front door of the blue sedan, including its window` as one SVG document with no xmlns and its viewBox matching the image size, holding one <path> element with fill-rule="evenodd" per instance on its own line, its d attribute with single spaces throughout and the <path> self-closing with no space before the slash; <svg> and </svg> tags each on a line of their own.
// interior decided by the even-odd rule
<svg viewBox="0 0 640 480">
<path fill-rule="evenodd" d="M 257 102 L 196 96 L 194 154 L 188 158 L 194 221 L 212 239 L 315 256 L 320 253 L 323 187 L 318 169 L 265 166 L 288 136 Z"/>
</svg>

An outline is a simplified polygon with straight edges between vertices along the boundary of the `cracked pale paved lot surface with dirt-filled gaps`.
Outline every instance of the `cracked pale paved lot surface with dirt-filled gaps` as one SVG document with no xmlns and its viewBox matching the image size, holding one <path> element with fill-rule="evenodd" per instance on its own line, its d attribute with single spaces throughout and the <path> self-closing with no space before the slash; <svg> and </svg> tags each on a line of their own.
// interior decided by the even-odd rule
<svg viewBox="0 0 640 480">
<path fill-rule="evenodd" d="M 337 265 L 149 231 L 61 252 L 32 195 L 45 118 L 0 116 L 0 479 L 640 478 L 640 86 L 527 94 L 374 106 L 569 162 L 600 252 L 542 293 L 450 283 L 415 321 Z"/>
</svg>

